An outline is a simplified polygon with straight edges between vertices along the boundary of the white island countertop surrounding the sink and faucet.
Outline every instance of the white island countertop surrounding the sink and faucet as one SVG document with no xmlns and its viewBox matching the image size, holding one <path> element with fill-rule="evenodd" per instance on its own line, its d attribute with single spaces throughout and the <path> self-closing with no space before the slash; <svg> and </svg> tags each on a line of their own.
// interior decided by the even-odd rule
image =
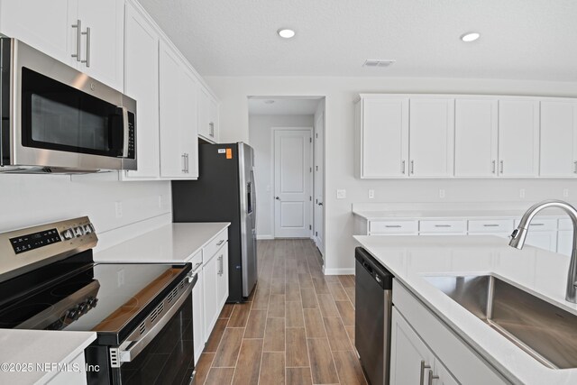
<svg viewBox="0 0 577 385">
<path fill-rule="evenodd" d="M 527 384 L 577 383 L 577 369 L 553 370 L 536 362 L 423 278 L 492 273 L 577 315 L 577 305 L 564 300 L 569 257 L 527 245 L 519 251 L 493 236 L 362 235 L 354 238 L 510 380 Z"/>
</svg>

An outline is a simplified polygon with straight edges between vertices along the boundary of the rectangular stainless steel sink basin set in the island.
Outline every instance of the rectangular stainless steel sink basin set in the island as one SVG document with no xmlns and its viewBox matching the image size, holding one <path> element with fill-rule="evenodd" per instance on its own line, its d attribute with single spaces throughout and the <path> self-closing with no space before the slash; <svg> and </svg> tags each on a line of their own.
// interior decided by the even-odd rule
<svg viewBox="0 0 577 385">
<path fill-rule="evenodd" d="M 425 277 L 538 362 L 577 367 L 577 316 L 492 275 Z"/>
</svg>

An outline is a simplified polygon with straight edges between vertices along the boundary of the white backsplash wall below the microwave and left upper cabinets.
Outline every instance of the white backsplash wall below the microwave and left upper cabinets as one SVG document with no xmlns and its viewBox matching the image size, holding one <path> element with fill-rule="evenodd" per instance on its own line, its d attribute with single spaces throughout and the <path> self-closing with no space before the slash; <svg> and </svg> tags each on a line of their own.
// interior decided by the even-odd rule
<svg viewBox="0 0 577 385">
<path fill-rule="evenodd" d="M 88 215 L 101 240 L 106 232 L 123 240 L 117 235 L 124 232 L 118 230 L 123 226 L 139 227 L 155 218 L 170 222 L 169 181 L 119 182 L 112 180 L 115 175 L 70 179 L 66 175 L 0 174 L 0 232 Z M 120 218 L 116 218 L 115 202 L 122 202 Z"/>
</svg>

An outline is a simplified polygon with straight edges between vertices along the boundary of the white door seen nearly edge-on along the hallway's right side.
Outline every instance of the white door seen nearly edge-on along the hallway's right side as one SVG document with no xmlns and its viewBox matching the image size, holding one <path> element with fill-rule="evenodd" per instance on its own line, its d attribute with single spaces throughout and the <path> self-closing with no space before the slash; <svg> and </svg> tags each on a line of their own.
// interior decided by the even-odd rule
<svg viewBox="0 0 577 385">
<path fill-rule="evenodd" d="M 323 163 L 324 156 L 324 142 L 325 142 L 325 114 L 319 114 L 315 122 L 315 198 L 314 201 L 314 224 L 315 224 L 315 242 L 318 250 L 325 254 L 325 245 L 323 243 L 324 233 L 324 213 L 325 213 L 325 202 L 323 201 L 323 195 L 325 191 L 325 185 L 323 183 L 325 175 L 325 165 Z"/>
</svg>

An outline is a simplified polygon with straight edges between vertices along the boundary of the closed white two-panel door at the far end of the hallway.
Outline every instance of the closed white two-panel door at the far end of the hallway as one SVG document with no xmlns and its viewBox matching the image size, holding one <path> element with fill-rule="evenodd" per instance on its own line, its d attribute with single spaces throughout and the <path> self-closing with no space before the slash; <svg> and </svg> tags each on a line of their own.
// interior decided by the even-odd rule
<svg viewBox="0 0 577 385">
<path fill-rule="evenodd" d="M 310 129 L 274 130 L 274 227 L 277 238 L 311 234 Z"/>
</svg>

